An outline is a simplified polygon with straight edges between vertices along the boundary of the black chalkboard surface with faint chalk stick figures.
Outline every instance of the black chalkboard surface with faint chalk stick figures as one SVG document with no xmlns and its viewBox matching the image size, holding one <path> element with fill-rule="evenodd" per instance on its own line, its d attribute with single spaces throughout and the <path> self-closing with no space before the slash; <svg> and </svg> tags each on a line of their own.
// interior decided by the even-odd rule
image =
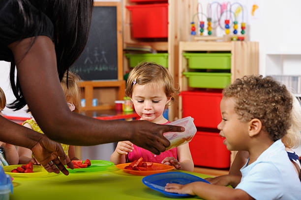
<svg viewBox="0 0 301 200">
<path fill-rule="evenodd" d="M 83 80 L 117 80 L 117 7 L 94 6 L 89 39 L 71 71 Z"/>
</svg>

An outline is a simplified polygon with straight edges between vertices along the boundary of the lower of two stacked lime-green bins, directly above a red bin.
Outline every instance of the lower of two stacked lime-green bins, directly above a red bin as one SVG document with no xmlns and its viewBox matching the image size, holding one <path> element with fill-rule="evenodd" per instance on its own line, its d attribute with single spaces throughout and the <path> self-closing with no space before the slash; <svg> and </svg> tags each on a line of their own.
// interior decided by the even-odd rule
<svg viewBox="0 0 301 200">
<path fill-rule="evenodd" d="M 183 72 L 188 78 L 189 87 L 225 88 L 231 83 L 231 73 Z"/>
</svg>

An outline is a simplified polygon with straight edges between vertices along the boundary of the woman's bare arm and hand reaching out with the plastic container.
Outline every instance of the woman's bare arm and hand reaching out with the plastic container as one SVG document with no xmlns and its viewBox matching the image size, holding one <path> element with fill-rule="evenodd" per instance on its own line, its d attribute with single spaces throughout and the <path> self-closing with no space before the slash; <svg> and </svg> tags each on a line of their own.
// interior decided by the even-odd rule
<svg viewBox="0 0 301 200">
<path fill-rule="evenodd" d="M 37 36 L 28 50 L 33 39 L 14 42 L 8 47 L 14 54 L 30 111 L 50 139 L 77 146 L 129 140 L 159 154 L 170 145 L 164 132 L 184 130 L 147 121 L 101 121 L 70 112 L 60 86 L 54 44 L 49 37 Z"/>
</svg>

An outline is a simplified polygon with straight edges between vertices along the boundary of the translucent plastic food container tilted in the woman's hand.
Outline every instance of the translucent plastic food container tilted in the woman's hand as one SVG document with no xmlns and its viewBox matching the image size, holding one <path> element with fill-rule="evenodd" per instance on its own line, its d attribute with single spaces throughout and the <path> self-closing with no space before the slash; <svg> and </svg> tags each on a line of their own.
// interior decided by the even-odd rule
<svg viewBox="0 0 301 200">
<path fill-rule="evenodd" d="M 168 125 L 179 125 L 185 128 L 184 132 L 166 132 L 164 136 L 169 140 L 170 146 L 166 150 L 173 149 L 180 145 L 186 144 L 192 140 L 197 129 L 193 123 L 192 117 L 185 117 L 183 119 L 171 122 Z"/>
</svg>

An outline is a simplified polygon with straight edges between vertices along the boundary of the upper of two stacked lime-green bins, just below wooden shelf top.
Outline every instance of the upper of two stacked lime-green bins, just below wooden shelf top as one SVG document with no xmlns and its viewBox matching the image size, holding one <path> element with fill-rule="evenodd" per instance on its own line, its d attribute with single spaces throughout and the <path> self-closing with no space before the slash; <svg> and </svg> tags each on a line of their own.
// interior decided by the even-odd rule
<svg viewBox="0 0 301 200">
<path fill-rule="evenodd" d="M 231 53 L 183 53 L 190 69 L 230 70 Z"/>
</svg>

